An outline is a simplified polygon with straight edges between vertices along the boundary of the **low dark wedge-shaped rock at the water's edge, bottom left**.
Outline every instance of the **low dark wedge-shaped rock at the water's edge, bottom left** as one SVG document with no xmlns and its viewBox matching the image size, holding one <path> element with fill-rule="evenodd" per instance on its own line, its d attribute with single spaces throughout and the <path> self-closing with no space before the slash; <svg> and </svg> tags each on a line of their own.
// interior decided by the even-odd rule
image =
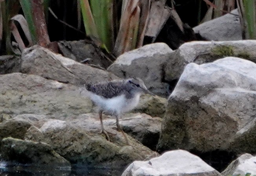
<svg viewBox="0 0 256 176">
<path fill-rule="evenodd" d="M 4 138 L 1 145 L 1 158 L 8 162 L 37 167 L 69 167 L 70 163 L 57 154 L 46 143 Z"/>
</svg>

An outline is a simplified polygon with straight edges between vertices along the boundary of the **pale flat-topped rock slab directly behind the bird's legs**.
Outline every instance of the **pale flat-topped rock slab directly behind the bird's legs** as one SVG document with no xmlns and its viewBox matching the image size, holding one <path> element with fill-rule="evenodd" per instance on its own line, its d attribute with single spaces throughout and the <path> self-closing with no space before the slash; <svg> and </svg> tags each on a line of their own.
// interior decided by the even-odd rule
<svg viewBox="0 0 256 176">
<path fill-rule="evenodd" d="M 104 128 L 110 131 L 112 134 L 117 134 L 113 129 L 116 128 L 115 117 L 103 116 Z M 83 121 L 83 122 L 82 122 Z M 123 127 L 124 132 L 132 136 L 146 147 L 149 147 L 153 151 L 156 150 L 156 145 L 159 140 L 162 118 L 154 117 L 147 114 L 124 114 L 120 118 L 120 124 Z M 101 129 L 98 114 L 82 114 L 73 120 L 77 122 L 77 125 L 84 129 L 90 129 L 91 132 L 99 132 Z M 120 136 L 123 140 L 123 136 Z M 119 139 L 113 139 L 118 141 Z"/>
</svg>

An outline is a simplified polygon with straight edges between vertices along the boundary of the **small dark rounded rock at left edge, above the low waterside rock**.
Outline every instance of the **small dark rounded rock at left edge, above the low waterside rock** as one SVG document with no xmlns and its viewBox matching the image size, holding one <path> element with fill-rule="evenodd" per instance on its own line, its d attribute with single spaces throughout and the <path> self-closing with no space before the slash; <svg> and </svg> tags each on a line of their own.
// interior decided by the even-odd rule
<svg viewBox="0 0 256 176">
<path fill-rule="evenodd" d="M 0 123 L 0 142 L 3 138 L 7 138 L 9 136 L 24 139 L 27 129 L 29 129 L 31 125 L 31 123 L 23 119 L 11 119 Z"/>
</svg>

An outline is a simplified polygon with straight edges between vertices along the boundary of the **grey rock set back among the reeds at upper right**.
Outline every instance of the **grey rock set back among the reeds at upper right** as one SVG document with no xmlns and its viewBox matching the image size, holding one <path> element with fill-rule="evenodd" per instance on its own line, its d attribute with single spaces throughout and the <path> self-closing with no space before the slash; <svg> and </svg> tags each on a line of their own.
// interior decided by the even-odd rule
<svg viewBox="0 0 256 176">
<path fill-rule="evenodd" d="M 207 40 L 225 41 L 243 39 L 237 9 L 219 18 L 199 24 L 193 30 Z"/>
</svg>

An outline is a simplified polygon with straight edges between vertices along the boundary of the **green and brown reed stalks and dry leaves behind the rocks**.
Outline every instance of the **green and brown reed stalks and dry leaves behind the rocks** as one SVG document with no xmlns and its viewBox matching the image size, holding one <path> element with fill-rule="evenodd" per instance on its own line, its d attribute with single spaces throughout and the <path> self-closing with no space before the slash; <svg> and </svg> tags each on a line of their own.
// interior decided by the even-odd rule
<svg viewBox="0 0 256 176">
<path fill-rule="evenodd" d="M 243 26 L 243 37 L 245 39 L 255 38 L 254 1 L 190 1 L 198 4 L 198 23 L 229 13 L 237 5 Z M 41 2 L 38 0 L 0 0 L 0 49 L 2 53 L 18 54 L 15 52 L 12 42 L 18 45 L 20 51 L 34 44 L 49 47 L 55 51 L 56 46 L 50 42 L 47 24 L 49 15 L 55 16 L 56 19 L 57 16 L 50 8 L 50 0 L 44 0 L 43 4 Z M 166 16 L 163 14 L 160 16 L 161 23 L 156 23 L 159 20 L 154 21 L 154 15 L 157 13 L 150 0 L 74 0 L 74 2 L 78 4 L 76 20 L 81 24 L 82 19 L 86 35 L 97 45 L 116 56 L 141 47 L 145 36 L 152 37 L 151 42 L 154 42 L 169 16 L 183 31 L 183 23 L 175 11 L 175 8 L 179 7 L 177 4 L 179 1 L 176 0 L 166 1 L 172 9 L 166 7 L 165 1 L 162 4 L 162 1 L 152 1 L 152 3 L 158 3 L 157 7 L 160 8 L 160 12 L 167 11 Z M 64 2 L 59 1 L 59 4 L 61 3 Z M 203 5 L 208 6 L 206 13 L 202 11 Z M 82 18 L 80 13 L 82 13 Z M 204 17 L 201 20 L 202 16 Z M 80 31 L 80 29 L 67 24 L 65 19 L 59 21 Z M 148 34 L 147 29 L 150 29 L 150 32 L 154 31 L 154 34 Z"/>
</svg>

